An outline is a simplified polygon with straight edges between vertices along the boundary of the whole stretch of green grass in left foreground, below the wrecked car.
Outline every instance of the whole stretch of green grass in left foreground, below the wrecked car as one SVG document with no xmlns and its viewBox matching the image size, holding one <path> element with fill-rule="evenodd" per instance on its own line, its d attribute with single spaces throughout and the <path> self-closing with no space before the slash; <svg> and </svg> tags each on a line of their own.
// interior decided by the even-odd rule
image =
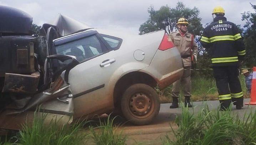
<svg viewBox="0 0 256 145">
<path fill-rule="evenodd" d="M 22 130 L 11 137 L 2 136 L 0 145 L 124 145 L 127 137 L 116 133 L 115 118 L 99 123 L 97 127 L 88 126 L 88 121 L 60 126 L 53 118 L 45 123 L 46 114 L 37 115 L 30 125 L 22 125 Z"/>
</svg>

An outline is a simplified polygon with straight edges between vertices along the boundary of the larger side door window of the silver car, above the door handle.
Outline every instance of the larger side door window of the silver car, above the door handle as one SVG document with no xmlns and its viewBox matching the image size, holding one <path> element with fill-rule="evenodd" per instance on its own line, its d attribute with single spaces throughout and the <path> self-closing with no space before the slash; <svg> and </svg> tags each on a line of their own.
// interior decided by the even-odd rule
<svg viewBox="0 0 256 145">
<path fill-rule="evenodd" d="M 57 54 L 76 56 L 78 61 L 88 60 L 103 53 L 102 44 L 93 35 L 56 46 Z"/>
</svg>

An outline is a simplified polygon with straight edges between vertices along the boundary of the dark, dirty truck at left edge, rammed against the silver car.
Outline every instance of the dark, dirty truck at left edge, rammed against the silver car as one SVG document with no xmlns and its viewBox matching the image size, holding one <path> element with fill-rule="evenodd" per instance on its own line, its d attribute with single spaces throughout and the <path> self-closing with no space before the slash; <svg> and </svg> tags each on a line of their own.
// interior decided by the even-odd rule
<svg viewBox="0 0 256 145">
<path fill-rule="evenodd" d="M 0 107 L 4 108 L 11 97 L 19 100 L 19 93 L 29 97 L 36 92 L 40 73 L 35 63 L 32 17 L 18 9 L 0 6 L 0 19 Z"/>
</svg>

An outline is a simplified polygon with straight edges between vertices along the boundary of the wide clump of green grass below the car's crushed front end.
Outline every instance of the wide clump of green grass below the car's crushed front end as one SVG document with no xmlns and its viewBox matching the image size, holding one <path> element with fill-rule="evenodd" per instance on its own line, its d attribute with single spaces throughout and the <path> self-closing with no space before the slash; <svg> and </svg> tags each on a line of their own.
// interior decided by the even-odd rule
<svg viewBox="0 0 256 145">
<path fill-rule="evenodd" d="M 17 135 L 19 145 L 82 145 L 86 144 L 87 134 L 80 133 L 83 123 L 58 125 L 58 120 L 53 118 L 46 125 L 46 114 L 35 112 L 32 126 L 28 123 L 22 126 L 22 130 Z"/>
</svg>

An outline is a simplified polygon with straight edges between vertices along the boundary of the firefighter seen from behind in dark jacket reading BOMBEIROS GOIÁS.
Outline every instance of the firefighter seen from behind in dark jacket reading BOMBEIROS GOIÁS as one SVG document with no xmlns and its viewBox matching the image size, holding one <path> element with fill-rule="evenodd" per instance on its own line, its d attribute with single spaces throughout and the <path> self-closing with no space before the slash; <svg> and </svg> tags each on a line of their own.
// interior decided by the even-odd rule
<svg viewBox="0 0 256 145">
<path fill-rule="evenodd" d="M 204 29 L 200 42 L 211 56 L 220 110 L 225 111 L 231 102 L 236 109 L 241 109 L 244 97 L 238 68 L 245 56 L 242 37 L 237 26 L 224 17 L 225 11 L 221 6 L 216 6 L 212 15 L 213 22 Z"/>
</svg>

